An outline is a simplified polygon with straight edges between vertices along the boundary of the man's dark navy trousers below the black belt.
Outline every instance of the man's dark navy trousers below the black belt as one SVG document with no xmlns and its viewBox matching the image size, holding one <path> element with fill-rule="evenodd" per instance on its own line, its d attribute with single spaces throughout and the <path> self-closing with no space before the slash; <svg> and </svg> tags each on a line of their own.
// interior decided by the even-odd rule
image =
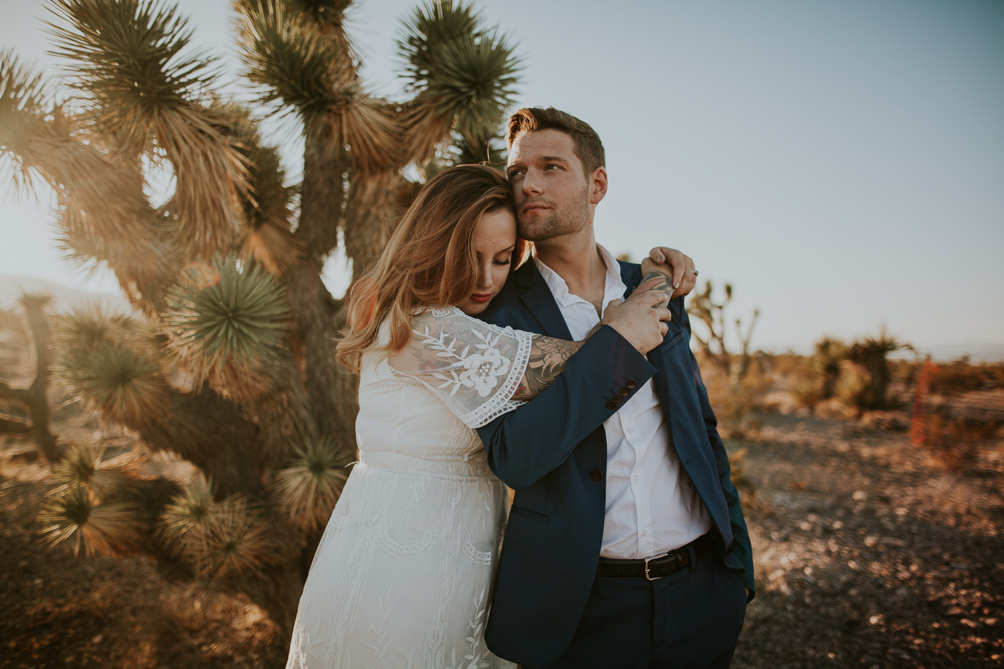
<svg viewBox="0 0 1004 669">
<path fill-rule="evenodd" d="M 564 654 L 546 669 L 725 669 L 746 590 L 714 554 L 656 581 L 597 577 Z"/>
</svg>

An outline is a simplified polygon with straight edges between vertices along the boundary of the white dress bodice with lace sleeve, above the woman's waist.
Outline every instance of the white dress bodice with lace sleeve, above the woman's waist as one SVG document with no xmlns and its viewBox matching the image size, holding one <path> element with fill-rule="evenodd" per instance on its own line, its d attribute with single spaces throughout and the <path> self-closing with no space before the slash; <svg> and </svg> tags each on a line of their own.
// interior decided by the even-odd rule
<svg viewBox="0 0 1004 669">
<path fill-rule="evenodd" d="M 376 343 L 388 340 L 385 326 Z M 530 333 L 488 325 L 456 308 L 417 314 L 404 350 L 389 355 L 374 348 L 362 355 L 355 420 L 362 461 L 398 457 L 404 468 L 443 473 L 452 472 L 444 463 L 479 463 L 474 468 L 487 473 L 473 427 L 514 408 L 511 397 L 531 346 Z M 470 469 L 461 465 L 456 472 Z"/>
</svg>

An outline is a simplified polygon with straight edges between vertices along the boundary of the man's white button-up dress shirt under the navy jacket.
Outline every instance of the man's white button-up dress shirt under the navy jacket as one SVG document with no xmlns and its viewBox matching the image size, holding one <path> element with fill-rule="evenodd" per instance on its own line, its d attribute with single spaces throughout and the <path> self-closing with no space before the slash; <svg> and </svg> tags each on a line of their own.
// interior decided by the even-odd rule
<svg viewBox="0 0 1004 669">
<path fill-rule="evenodd" d="M 623 299 L 620 266 L 596 245 L 606 266 L 603 310 Z M 540 270 L 561 310 L 568 331 L 581 340 L 599 322 L 590 303 L 568 292 L 556 272 Z M 606 516 L 600 555 L 648 558 L 691 543 L 711 530 L 712 521 L 670 443 L 669 425 L 653 379 L 636 388 L 620 409 L 603 423 L 606 432 Z"/>
</svg>

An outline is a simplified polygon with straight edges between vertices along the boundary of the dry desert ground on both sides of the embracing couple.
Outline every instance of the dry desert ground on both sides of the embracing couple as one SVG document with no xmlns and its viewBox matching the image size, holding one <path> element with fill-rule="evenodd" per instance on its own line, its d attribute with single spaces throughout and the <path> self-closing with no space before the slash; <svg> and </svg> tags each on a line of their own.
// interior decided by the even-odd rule
<svg viewBox="0 0 1004 669">
<path fill-rule="evenodd" d="M 3 376 L 23 383 L 26 339 L 3 332 Z M 1001 392 L 976 393 L 970 404 L 997 410 Z M 58 388 L 53 404 L 64 441 L 140 454 L 163 475 L 191 472 L 143 453 Z M 999 666 L 1001 440 L 948 466 L 912 445 L 906 412 L 861 420 L 777 410 L 755 412 L 757 428 L 727 440 L 758 591 L 732 666 Z M 70 546 L 48 546 L 37 520 L 47 467 L 26 437 L 0 439 L 0 668 L 284 665 L 276 628 L 242 596 L 149 557 L 75 557 Z"/>
</svg>

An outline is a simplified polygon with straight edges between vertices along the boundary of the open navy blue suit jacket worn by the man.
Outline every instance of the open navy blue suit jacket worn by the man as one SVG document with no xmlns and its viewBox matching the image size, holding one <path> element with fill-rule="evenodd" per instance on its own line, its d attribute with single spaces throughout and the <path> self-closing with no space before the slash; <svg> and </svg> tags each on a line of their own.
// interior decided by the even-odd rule
<svg viewBox="0 0 1004 669">
<path fill-rule="evenodd" d="M 620 263 L 626 297 L 641 266 Z M 478 429 L 492 471 L 516 490 L 485 631 L 496 655 L 528 666 L 556 660 L 575 632 L 599 563 L 606 507 L 607 402 L 655 377 L 680 461 L 724 540 L 720 557 L 753 591 L 753 557 L 717 421 L 690 349 L 683 298 L 670 303 L 663 344 L 643 356 L 600 328 L 553 386 Z M 510 275 L 481 320 L 572 339 L 536 265 Z M 629 401 L 630 397 L 628 400 Z"/>
</svg>

